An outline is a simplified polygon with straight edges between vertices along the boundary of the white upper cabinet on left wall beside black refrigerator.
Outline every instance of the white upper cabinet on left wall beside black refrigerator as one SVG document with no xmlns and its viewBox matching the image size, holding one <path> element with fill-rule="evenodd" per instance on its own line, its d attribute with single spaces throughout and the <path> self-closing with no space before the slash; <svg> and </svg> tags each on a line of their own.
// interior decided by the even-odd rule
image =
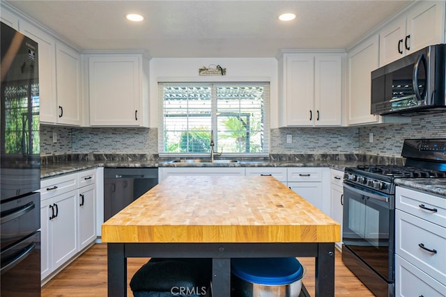
<svg viewBox="0 0 446 297">
<path fill-rule="evenodd" d="M 20 31 L 38 42 L 40 122 L 81 125 L 79 52 L 27 22 Z"/>
</svg>

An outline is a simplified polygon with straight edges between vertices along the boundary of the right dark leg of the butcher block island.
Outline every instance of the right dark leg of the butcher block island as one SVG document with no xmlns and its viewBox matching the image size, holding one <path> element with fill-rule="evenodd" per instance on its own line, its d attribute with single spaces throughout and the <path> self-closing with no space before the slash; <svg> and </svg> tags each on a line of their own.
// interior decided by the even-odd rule
<svg viewBox="0 0 446 297">
<path fill-rule="evenodd" d="M 316 296 L 334 296 L 334 243 L 318 243 Z"/>
</svg>

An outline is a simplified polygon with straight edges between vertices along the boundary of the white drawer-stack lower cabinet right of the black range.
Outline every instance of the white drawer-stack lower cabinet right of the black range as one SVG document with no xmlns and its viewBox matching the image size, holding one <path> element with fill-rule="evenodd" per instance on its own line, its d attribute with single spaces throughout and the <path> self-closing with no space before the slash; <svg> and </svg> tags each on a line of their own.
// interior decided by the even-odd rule
<svg viewBox="0 0 446 297">
<path fill-rule="evenodd" d="M 397 186 L 396 296 L 445 296 L 446 199 Z"/>
</svg>

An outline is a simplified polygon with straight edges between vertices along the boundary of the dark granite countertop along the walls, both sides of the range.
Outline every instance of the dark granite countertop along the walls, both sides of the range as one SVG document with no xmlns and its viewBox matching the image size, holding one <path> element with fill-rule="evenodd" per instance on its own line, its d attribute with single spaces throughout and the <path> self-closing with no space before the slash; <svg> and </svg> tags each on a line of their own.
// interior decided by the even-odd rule
<svg viewBox="0 0 446 297">
<path fill-rule="evenodd" d="M 102 155 L 100 160 L 91 158 L 63 159 L 46 161 L 40 168 L 40 178 L 45 179 L 70 172 L 95 167 L 105 168 L 157 168 L 157 167 L 328 167 L 344 171 L 346 167 L 369 165 L 371 163 L 398 163 L 399 160 L 380 156 L 356 156 L 354 154 L 295 154 L 272 155 L 270 159 L 243 160 L 236 163 L 171 163 L 172 159 L 152 158 L 147 156 L 109 156 Z M 94 160 L 93 160 L 94 159 Z M 395 179 L 398 186 L 406 186 L 434 195 L 446 196 L 446 179 Z"/>
</svg>

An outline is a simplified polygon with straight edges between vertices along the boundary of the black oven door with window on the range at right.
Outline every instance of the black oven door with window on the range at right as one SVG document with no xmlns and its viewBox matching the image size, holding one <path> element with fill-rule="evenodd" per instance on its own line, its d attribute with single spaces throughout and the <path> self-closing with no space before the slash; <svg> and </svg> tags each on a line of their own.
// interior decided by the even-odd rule
<svg viewBox="0 0 446 297">
<path fill-rule="evenodd" d="M 392 196 L 344 182 L 344 247 L 387 281 L 394 280 Z"/>
</svg>

